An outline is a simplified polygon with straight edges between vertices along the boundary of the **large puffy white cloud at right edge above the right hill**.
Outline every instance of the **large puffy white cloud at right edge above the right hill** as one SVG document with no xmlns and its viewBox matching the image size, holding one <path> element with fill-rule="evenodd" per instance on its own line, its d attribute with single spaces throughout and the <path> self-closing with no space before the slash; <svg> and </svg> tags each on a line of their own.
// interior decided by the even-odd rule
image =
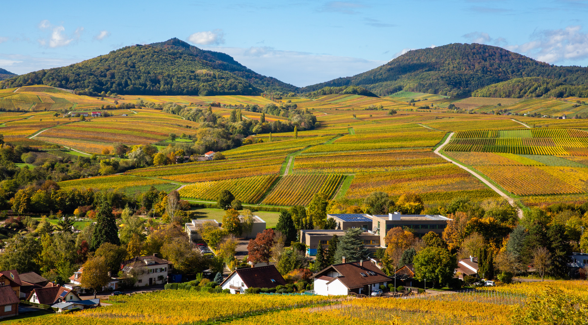
<svg viewBox="0 0 588 325">
<path fill-rule="evenodd" d="M 532 39 L 522 45 L 507 46 L 507 49 L 549 63 L 588 58 L 588 33 L 582 32 L 582 26 L 535 32 Z"/>
</svg>

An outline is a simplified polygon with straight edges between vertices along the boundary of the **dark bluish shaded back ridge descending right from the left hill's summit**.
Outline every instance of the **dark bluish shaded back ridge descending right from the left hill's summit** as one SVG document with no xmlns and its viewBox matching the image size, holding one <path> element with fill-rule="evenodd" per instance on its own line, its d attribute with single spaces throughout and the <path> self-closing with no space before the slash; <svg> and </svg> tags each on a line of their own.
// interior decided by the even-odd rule
<svg viewBox="0 0 588 325">
<path fill-rule="evenodd" d="M 260 75 L 259 73 L 252 71 L 241 63 L 235 61 L 232 56 L 226 53 L 199 49 L 196 46 L 192 46 L 178 38 L 168 39 L 168 41 L 165 42 L 151 43 L 149 45 L 158 48 L 175 49 L 188 55 L 196 56 L 199 59 L 209 62 L 215 69 L 229 71 L 236 76 L 247 79 L 247 81 L 259 89 L 262 89 L 263 91 L 278 91 L 287 93 L 297 92 L 299 89 L 294 85 L 281 82 L 276 78 Z"/>
</svg>

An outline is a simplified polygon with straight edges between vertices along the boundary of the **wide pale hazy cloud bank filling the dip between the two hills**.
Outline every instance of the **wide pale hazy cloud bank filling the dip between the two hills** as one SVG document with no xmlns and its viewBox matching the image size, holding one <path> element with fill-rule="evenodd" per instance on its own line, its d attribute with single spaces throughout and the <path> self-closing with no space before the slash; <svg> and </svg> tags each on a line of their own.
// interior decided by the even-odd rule
<svg viewBox="0 0 588 325">
<path fill-rule="evenodd" d="M 282 51 L 269 46 L 250 48 L 205 46 L 205 49 L 227 53 L 255 72 L 300 87 L 356 75 L 386 63 L 386 61 L 349 56 Z"/>
</svg>

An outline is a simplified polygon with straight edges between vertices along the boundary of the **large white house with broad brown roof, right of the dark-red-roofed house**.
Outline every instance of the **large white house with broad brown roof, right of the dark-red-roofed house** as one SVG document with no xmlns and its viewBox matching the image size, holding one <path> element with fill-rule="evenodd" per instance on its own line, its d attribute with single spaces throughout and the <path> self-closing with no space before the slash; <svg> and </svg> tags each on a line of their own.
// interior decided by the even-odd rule
<svg viewBox="0 0 588 325">
<path fill-rule="evenodd" d="M 321 296 L 348 295 L 349 293 L 366 294 L 372 290 L 387 286 L 390 277 L 369 260 L 331 265 L 313 274 L 314 292 Z"/>
</svg>

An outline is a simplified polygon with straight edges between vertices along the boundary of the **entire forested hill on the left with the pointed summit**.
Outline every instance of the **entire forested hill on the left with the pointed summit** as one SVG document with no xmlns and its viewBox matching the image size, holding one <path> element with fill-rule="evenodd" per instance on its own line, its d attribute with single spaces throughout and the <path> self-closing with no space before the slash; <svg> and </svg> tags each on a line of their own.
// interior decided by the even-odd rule
<svg viewBox="0 0 588 325">
<path fill-rule="evenodd" d="M 224 53 L 192 48 L 179 39 L 126 46 L 72 65 L 9 78 L 0 82 L 0 88 L 45 84 L 122 95 L 201 96 L 257 95 L 266 90 L 287 93 L 296 89 L 259 75 Z"/>
</svg>

